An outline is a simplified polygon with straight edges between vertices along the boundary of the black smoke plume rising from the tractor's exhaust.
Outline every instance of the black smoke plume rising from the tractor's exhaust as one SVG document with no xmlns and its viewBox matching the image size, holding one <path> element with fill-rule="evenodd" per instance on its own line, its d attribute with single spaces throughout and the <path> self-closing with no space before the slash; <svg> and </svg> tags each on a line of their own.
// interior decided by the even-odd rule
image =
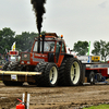
<svg viewBox="0 0 109 109">
<path fill-rule="evenodd" d="M 31 3 L 33 4 L 33 10 L 35 11 L 36 15 L 36 25 L 38 33 L 40 34 L 41 31 L 41 23 L 43 23 L 43 15 L 46 13 L 44 4 L 46 3 L 46 0 L 31 0 Z"/>
</svg>

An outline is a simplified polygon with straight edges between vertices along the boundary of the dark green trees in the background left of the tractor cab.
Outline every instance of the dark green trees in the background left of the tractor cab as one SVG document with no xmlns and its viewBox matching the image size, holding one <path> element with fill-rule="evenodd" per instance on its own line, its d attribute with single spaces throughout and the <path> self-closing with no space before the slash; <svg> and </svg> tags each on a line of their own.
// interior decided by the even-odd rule
<svg viewBox="0 0 109 109">
<path fill-rule="evenodd" d="M 44 33 L 41 32 L 41 34 Z M 14 41 L 16 50 L 31 51 L 35 37 L 38 37 L 38 33 L 22 32 L 21 35 L 15 35 L 10 27 L 4 27 L 0 31 L 0 53 L 3 55 L 5 50 L 11 50 Z"/>
</svg>

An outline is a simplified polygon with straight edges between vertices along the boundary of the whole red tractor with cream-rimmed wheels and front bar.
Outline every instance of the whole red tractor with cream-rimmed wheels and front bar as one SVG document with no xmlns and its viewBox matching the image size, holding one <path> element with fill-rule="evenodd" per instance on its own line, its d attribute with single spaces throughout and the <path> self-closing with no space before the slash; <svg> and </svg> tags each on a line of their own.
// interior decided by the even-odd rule
<svg viewBox="0 0 109 109">
<path fill-rule="evenodd" d="M 5 85 L 73 86 L 83 83 L 82 63 L 66 53 L 65 43 L 56 33 L 35 38 L 31 52 L 21 52 L 20 62 L 7 63 L 0 71 Z"/>
</svg>

